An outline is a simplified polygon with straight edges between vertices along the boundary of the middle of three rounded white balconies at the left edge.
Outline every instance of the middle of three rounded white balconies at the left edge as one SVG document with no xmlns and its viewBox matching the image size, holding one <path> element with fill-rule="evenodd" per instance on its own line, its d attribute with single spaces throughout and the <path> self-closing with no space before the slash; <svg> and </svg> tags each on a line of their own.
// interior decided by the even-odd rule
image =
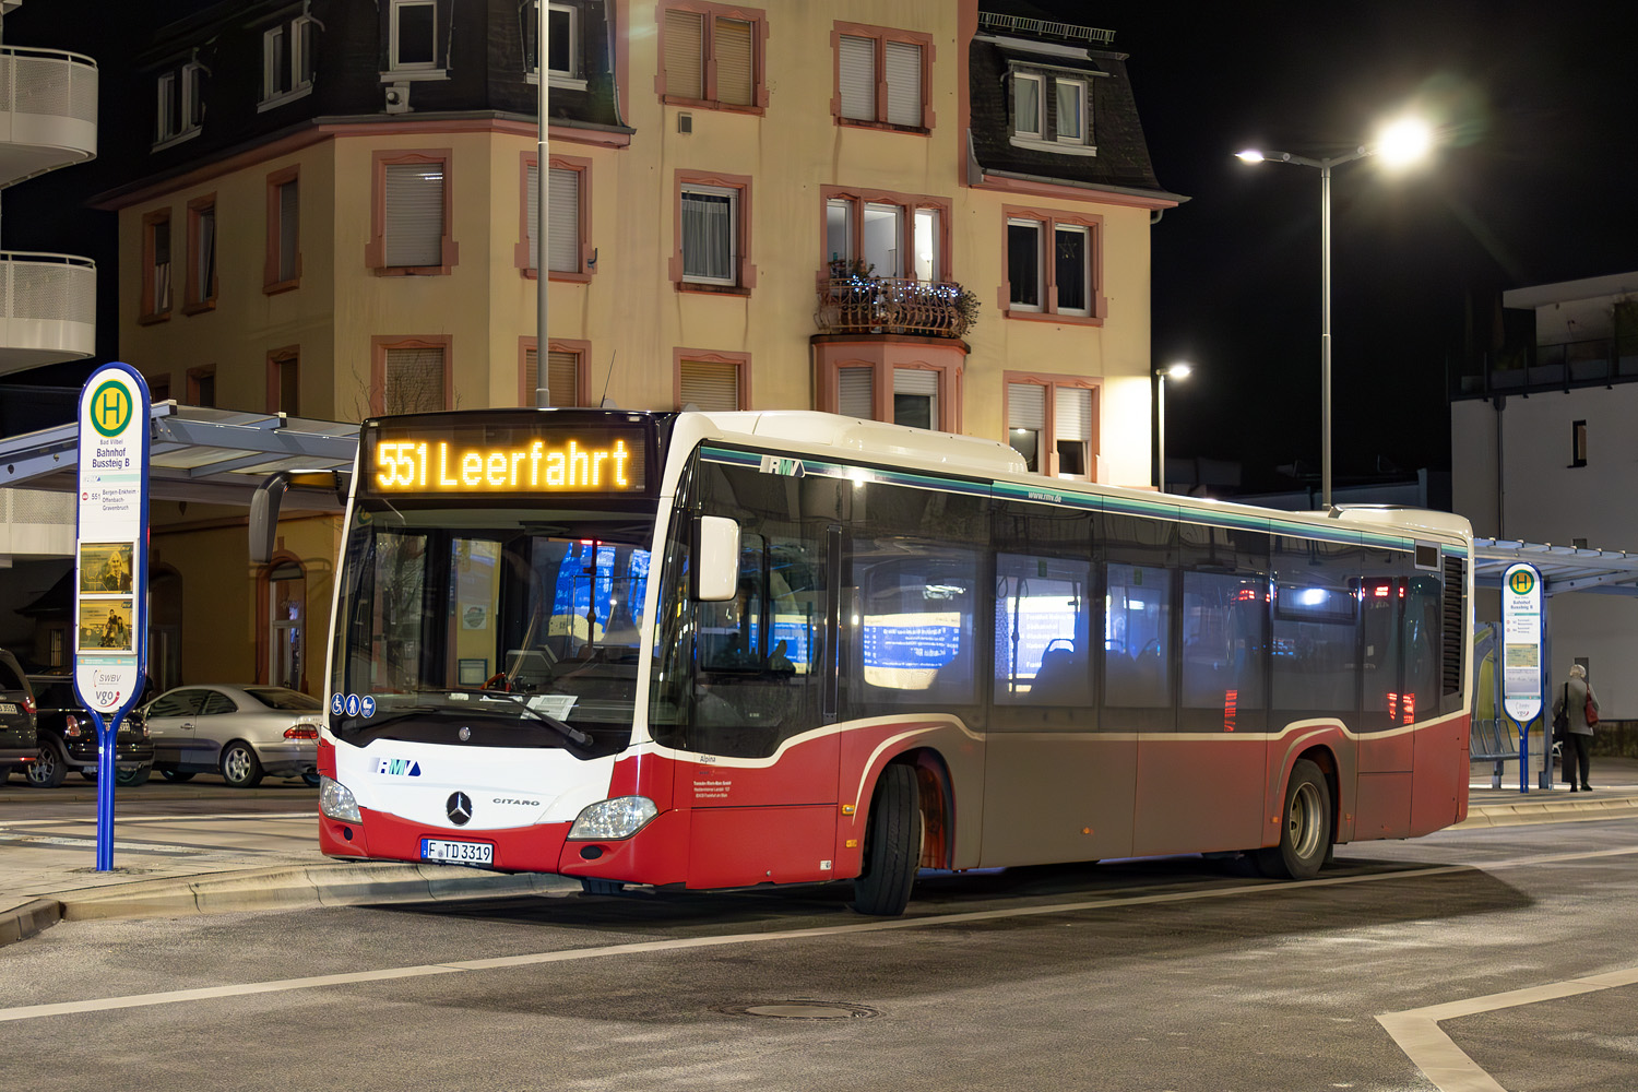
<svg viewBox="0 0 1638 1092">
<path fill-rule="evenodd" d="M 0 375 L 97 352 L 97 264 L 0 250 Z"/>
</svg>

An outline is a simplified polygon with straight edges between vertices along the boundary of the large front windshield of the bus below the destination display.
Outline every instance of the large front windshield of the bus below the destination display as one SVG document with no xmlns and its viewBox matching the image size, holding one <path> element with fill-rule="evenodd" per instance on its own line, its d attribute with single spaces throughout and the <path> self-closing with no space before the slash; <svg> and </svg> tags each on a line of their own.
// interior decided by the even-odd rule
<svg viewBox="0 0 1638 1092">
<path fill-rule="evenodd" d="M 331 730 L 588 758 L 631 740 L 652 512 L 360 504 Z M 465 735 L 459 732 L 465 730 Z"/>
</svg>

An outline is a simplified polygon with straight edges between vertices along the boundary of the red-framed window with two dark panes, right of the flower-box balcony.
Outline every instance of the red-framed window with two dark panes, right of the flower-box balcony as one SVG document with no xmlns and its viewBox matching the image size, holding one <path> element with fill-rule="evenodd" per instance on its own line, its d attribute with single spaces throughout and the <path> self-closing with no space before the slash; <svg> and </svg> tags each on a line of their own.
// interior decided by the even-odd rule
<svg viewBox="0 0 1638 1092">
<path fill-rule="evenodd" d="M 1102 219 L 1061 211 L 1006 211 L 1007 285 L 1001 303 L 1007 316 L 1101 321 L 1107 311 L 1099 291 Z"/>
</svg>

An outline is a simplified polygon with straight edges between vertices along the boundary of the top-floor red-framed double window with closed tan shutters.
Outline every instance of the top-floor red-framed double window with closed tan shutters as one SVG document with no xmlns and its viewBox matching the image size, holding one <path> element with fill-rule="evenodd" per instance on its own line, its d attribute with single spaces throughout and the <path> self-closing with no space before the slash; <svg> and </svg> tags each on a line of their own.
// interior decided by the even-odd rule
<svg viewBox="0 0 1638 1092">
<path fill-rule="evenodd" d="M 767 18 L 760 8 L 680 0 L 660 10 L 660 72 L 668 103 L 762 113 Z"/>
</svg>

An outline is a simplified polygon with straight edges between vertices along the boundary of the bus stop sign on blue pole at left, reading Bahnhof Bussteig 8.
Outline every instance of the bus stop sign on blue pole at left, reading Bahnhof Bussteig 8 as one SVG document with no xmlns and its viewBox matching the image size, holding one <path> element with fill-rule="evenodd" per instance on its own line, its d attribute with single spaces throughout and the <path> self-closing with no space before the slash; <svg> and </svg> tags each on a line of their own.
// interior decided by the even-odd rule
<svg viewBox="0 0 1638 1092">
<path fill-rule="evenodd" d="M 115 740 L 147 678 L 147 383 L 128 363 L 80 390 L 74 693 L 97 724 L 97 871 L 113 871 Z"/>
</svg>

